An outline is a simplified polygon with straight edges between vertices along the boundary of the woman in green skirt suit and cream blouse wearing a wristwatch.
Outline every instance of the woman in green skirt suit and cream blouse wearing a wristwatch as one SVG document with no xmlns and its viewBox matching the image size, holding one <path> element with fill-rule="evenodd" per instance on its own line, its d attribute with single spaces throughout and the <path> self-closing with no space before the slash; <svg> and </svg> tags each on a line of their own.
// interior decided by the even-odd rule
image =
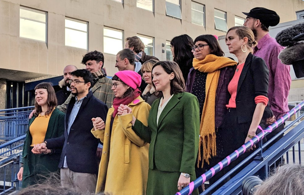
<svg viewBox="0 0 304 195">
<path fill-rule="evenodd" d="M 175 194 L 195 180 L 198 100 L 184 92 L 183 74 L 175 62 L 156 63 L 152 68 L 152 82 L 162 97 L 151 106 L 148 127 L 135 117 L 131 123 L 133 130 L 150 143 L 147 195 Z M 132 109 L 121 105 L 118 114 L 127 117 Z"/>
</svg>

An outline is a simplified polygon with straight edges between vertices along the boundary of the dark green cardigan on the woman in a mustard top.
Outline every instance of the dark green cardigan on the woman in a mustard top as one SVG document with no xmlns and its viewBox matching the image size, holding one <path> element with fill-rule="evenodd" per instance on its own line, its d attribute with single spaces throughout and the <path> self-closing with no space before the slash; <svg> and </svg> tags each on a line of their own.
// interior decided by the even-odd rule
<svg viewBox="0 0 304 195">
<path fill-rule="evenodd" d="M 50 139 L 50 138 L 56 138 L 60 137 L 64 133 L 64 117 L 65 114 L 61 111 L 59 111 L 57 108 L 54 109 L 50 120 L 48 122 L 48 128 L 45 134 L 45 140 Z M 32 122 L 35 120 L 35 116 L 33 116 L 29 120 L 29 127 L 32 124 Z M 32 153 L 30 149 L 30 145 L 32 143 L 32 136 L 29 133 L 29 127 L 28 131 L 26 134 L 25 142 L 24 142 L 24 147 L 22 151 L 22 158 L 21 162 L 24 162 L 24 168 L 23 168 L 23 175 L 30 175 L 33 173 L 34 170 L 32 170 L 29 167 L 28 161 L 31 159 L 32 155 L 35 155 Z M 40 155 L 40 162 L 44 166 L 44 168 L 48 171 L 54 172 L 58 170 L 58 163 L 60 160 L 60 155 L 61 155 L 61 148 L 58 148 L 55 150 L 55 152 L 51 155 L 47 154 L 41 154 Z"/>
</svg>

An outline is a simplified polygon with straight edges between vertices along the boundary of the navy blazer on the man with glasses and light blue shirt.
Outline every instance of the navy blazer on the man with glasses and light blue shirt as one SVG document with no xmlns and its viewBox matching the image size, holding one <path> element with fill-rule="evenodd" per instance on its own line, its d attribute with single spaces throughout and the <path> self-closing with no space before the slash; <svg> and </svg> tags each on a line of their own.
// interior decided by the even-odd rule
<svg viewBox="0 0 304 195">
<path fill-rule="evenodd" d="M 93 117 L 101 117 L 102 120 L 106 121 L 108 108 L 106 104 L 94 97 L 90 91 L 87 97 L 83 99 L 79 112 L 71 126 L 70 133 L 67 135 L 68 119 L 75 101 L 75 98 L 72 98 L 67 107 L 64 135 L 46 140 L 47 147 L 56 148 L 63 146 L 59 168 L 63 167 L 64 157 L 67 156 L 67 166 L 70 170 L 79 173 L 96 174 L 98 172 L 96 159 L 98 139 L 91 133 L 93 128 L 91 119 Z"/>
</svg>

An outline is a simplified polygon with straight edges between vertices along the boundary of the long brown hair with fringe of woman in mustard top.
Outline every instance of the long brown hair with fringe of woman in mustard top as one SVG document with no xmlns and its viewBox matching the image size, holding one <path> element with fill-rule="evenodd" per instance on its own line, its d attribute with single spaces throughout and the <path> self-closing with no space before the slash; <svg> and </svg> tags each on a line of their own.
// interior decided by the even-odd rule
<svg viewBox="0 0 304 195">
<path fill-rule="evenodd" d="M 45 115 L 48 115 L 53 111 L 53 109 L 57 105 L 57 98 L 56 98 L 55 90 L 54 90 L 53 86 L 51 85 L 51 83 L 49 83 L 49 82 L 39 83 L 35 87 L 35 90 L 37 90 L 37 89 L 46 89 L 48 91 L 48 99 L 47 99 L 48 110 L 45 112 Z M 34 115 L 37 117 L 38 114 L 40 114 L 42 112 L 42 108 L 40 105 L 38 105 L 37 101 L 35 101 L 35 109 L 36 109 L 36 112 L 34 113 Z"/>
</svg>

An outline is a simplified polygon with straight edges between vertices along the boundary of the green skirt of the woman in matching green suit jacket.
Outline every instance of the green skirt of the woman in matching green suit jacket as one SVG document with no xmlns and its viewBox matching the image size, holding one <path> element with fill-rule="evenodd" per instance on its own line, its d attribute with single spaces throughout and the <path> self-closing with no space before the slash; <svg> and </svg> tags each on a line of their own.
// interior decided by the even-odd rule
<svg viewBox="0 0 304 195">
<path fill-rule="evenodd" d="M 195 171 L 193 170 L 193 172 L 190 178 L 191 182 L 196 179 Z M 180 172 L 160 171 L 156 168 L 149 169 L 147 195 L 174 195 L 179 191 L 177 189 L 179 176 Z M 192 195 L 198 195 L 198 190 L 194 190 Z"/>
</svg>

